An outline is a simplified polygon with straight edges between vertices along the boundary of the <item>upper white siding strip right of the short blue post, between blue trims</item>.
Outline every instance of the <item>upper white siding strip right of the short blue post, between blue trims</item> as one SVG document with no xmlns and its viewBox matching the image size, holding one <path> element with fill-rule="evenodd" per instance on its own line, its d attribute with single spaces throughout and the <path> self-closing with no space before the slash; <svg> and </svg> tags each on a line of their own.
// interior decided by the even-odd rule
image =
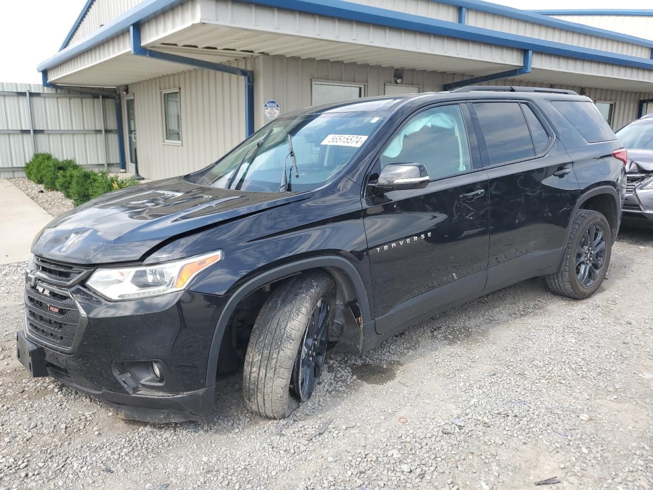
<svg viewBox="0 0 653 490">
<path fill-rule="evenodd" d="M 650 57 L 651 52 L 650 48 L 646 48 L 646 46 L 564 31 L 546 25 L 539 25 L 532 22 L 525 22 L 523 20 L 479 12 L 478 10 L 467 10 L 467 24 L 475 25 L 476 27 L 485 27 L 485 29 L 492 29 L 494 31 L 535 37 L 537 39 L 544 39 L 545 41 L 563 42 L 565 44 L 584 46 L 585 48 L 593 48 L 613 53 L 628 54 L 630 56 L 645 57 L 647 59 Z M 629 32 L 626 33 L 633 34 Z"/>
</svg>

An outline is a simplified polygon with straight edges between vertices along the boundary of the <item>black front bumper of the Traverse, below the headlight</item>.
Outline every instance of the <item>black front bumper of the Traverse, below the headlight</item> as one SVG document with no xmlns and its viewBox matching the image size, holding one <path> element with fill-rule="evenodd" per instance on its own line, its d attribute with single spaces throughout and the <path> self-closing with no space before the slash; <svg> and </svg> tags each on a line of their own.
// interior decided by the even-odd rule
<svg viewBox="0 0 653 490">
<path fill-rule="evenodd" d="M 72 348 L 48 344 L 35 333 L 29 308 L 18 333 L 19 350 L 36 346 L 33 357 L 42 357 L 49 376 L 105 400 L 125 418 L 206 423 L 212 417 L 214 386 L 206 384 L 206 374 L 224 297 L 183 291 L 108 302 L 80 286 L 69 295 L 81 317 Z M 161 380 L 145 372 L 152 362 L 161 367 Z"/>
</svg>

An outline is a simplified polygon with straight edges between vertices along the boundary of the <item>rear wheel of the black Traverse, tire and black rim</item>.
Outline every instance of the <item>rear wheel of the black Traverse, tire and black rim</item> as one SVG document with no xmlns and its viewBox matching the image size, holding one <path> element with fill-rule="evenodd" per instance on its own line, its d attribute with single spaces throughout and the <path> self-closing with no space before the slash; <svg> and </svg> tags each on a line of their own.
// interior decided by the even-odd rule
<svg viewBox="0 0 653 490">
<path fill-rule="evenodd" d="M 590 242 L 590 235 L 593 238 L 588 253 L 586 244 Z M 545 276 L 551 291 L 573 299 L 593 295 L 610 265 L 612 243 L 610 225 L 603 214 L 592 210 L 577 212 L 567 237 L 562 270 Z"/>
</svg>

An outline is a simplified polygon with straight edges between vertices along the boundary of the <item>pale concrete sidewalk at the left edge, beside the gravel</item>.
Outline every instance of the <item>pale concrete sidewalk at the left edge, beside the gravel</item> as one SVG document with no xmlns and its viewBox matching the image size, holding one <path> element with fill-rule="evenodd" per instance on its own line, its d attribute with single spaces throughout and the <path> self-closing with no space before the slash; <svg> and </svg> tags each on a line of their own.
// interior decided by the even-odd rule
<svg viewBox="0 0 653 490">
<path fill-rule="evenodd" d="M 0 178 L 0 264 L 29 259 L 32 240 L 53 219 L 23 191 Z"/>
</svg>

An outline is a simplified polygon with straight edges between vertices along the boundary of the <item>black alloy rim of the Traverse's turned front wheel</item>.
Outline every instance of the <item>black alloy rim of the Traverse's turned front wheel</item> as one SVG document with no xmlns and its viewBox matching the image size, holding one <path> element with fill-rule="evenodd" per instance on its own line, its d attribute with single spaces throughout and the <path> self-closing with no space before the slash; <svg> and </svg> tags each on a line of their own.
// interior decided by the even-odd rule
<svg viewBox="0 0 653 490">
<path fill-rule="evenodd" d="M 321 297 L 311 313 L 293 369 L 293 391 L 302 402 L 310 399 L 322 373 L 329 324 L 329 302 Z"/>
</svg>

